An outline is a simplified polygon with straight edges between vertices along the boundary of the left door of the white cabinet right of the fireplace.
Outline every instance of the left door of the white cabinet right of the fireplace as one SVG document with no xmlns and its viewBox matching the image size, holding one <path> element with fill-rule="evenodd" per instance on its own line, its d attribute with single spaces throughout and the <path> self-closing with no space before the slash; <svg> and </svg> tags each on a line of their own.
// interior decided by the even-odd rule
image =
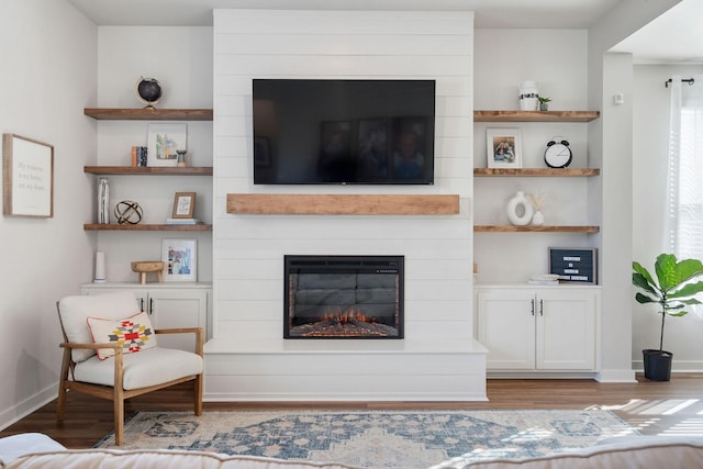
<svg viewBox="0 0 703 469">
<path fill-rule="evenodd" d="M 488 369 L 535 368 L 534 293 L 486 290 L 478 293 L 478 340 L 488 348 Z"/>
</svg>

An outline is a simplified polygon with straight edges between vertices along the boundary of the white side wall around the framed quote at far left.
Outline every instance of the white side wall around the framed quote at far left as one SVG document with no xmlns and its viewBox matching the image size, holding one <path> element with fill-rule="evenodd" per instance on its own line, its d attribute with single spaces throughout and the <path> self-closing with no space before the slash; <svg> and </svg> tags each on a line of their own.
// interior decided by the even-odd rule
<svg viewBox="0 0 703 469">
<path fill-rule="evenodd" d="M 56 0 L 0 2 L 0 131 L 54 145 L 54 217 L 0 217 L 0 427 L 56 397 L 62 342 L 55 302 L 92 275 L 90 181 L 96 149 L 97 27 Z"/>
</svg>

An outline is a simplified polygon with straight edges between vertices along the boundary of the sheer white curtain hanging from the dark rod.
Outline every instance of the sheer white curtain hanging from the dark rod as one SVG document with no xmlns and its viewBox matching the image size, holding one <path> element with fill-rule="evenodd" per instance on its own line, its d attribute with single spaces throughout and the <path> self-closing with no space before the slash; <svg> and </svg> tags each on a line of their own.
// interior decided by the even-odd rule
<svg viewBox="0 0 703 469">
<path fill-rule="evenodd" d="M 671 78 L 663 252 L 703 259 L 703 76 Z"/>
</svg>

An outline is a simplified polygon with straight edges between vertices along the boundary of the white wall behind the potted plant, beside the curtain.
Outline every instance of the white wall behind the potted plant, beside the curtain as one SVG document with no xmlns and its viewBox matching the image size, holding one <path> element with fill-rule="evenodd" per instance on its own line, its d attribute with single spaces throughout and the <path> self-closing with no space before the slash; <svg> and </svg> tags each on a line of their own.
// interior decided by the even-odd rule
<svg viewBox="0 0 703 469">
<path fill-rule="evenodd" d="M 689 78 L 703 72 L 703 66 L 637 65 L 634 67 L 633 138 L 633 259 L 652 269 L 665 252 L 663 214 L 669 154 L 669 88 L 672 75 Z M 698 85 L 701 86 L 701 85 Z M 659 345 L 660 315 L 634 300 L 632 359 L 641 369 L 641 350 Z M 701 351 L 703 317 L 689 314 L 667 320 L 665 348 L 673 353 L 673 370 L 703 370 Z"/>
</svg>

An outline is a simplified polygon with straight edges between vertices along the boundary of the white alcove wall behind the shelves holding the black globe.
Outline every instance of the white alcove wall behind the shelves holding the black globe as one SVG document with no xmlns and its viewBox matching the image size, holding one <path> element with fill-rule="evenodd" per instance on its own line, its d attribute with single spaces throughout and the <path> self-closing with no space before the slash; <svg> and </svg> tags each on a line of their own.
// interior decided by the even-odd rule
<svg viewBox="0 0 703 469">
<path fill-rule="evenodd" d="M 156 78 L 161 86 L 163 97 L 157 108 L 212 108 L 212 27 L 100 26 L 98 56 L 98 100 L 90 107 L 144 107 L 134 93 L 143 76 Z M 91 124 L 98 133 L 98 152 L 91 155 L 92 164 L 129 166 L 132 145 L 147 144 L 147 121 L 93 121 Z M 188 165 L 212 166 L 213 123 L 186 124 Z M 94 182 L 98 178 L 92 179 Z M 121 200 L 136 201 L 144 211 L 143 223 L 164 223 L 171 216 L 175 192 L 196 192 L 196 217 L 212 222 L 210 177 L 109 176 L 108 179 L 111 206 Z M 112 220 L 114 223 L 114 217 Z M 105 253 L 108 281 L 136 281 L 130 263 L 160 259 L 163 238 L 196 238 L 198 280 L 212 280 L 210 232 L 99 232 L 91 236 L 97 238 L 97 249 Z"/>
</svg>

